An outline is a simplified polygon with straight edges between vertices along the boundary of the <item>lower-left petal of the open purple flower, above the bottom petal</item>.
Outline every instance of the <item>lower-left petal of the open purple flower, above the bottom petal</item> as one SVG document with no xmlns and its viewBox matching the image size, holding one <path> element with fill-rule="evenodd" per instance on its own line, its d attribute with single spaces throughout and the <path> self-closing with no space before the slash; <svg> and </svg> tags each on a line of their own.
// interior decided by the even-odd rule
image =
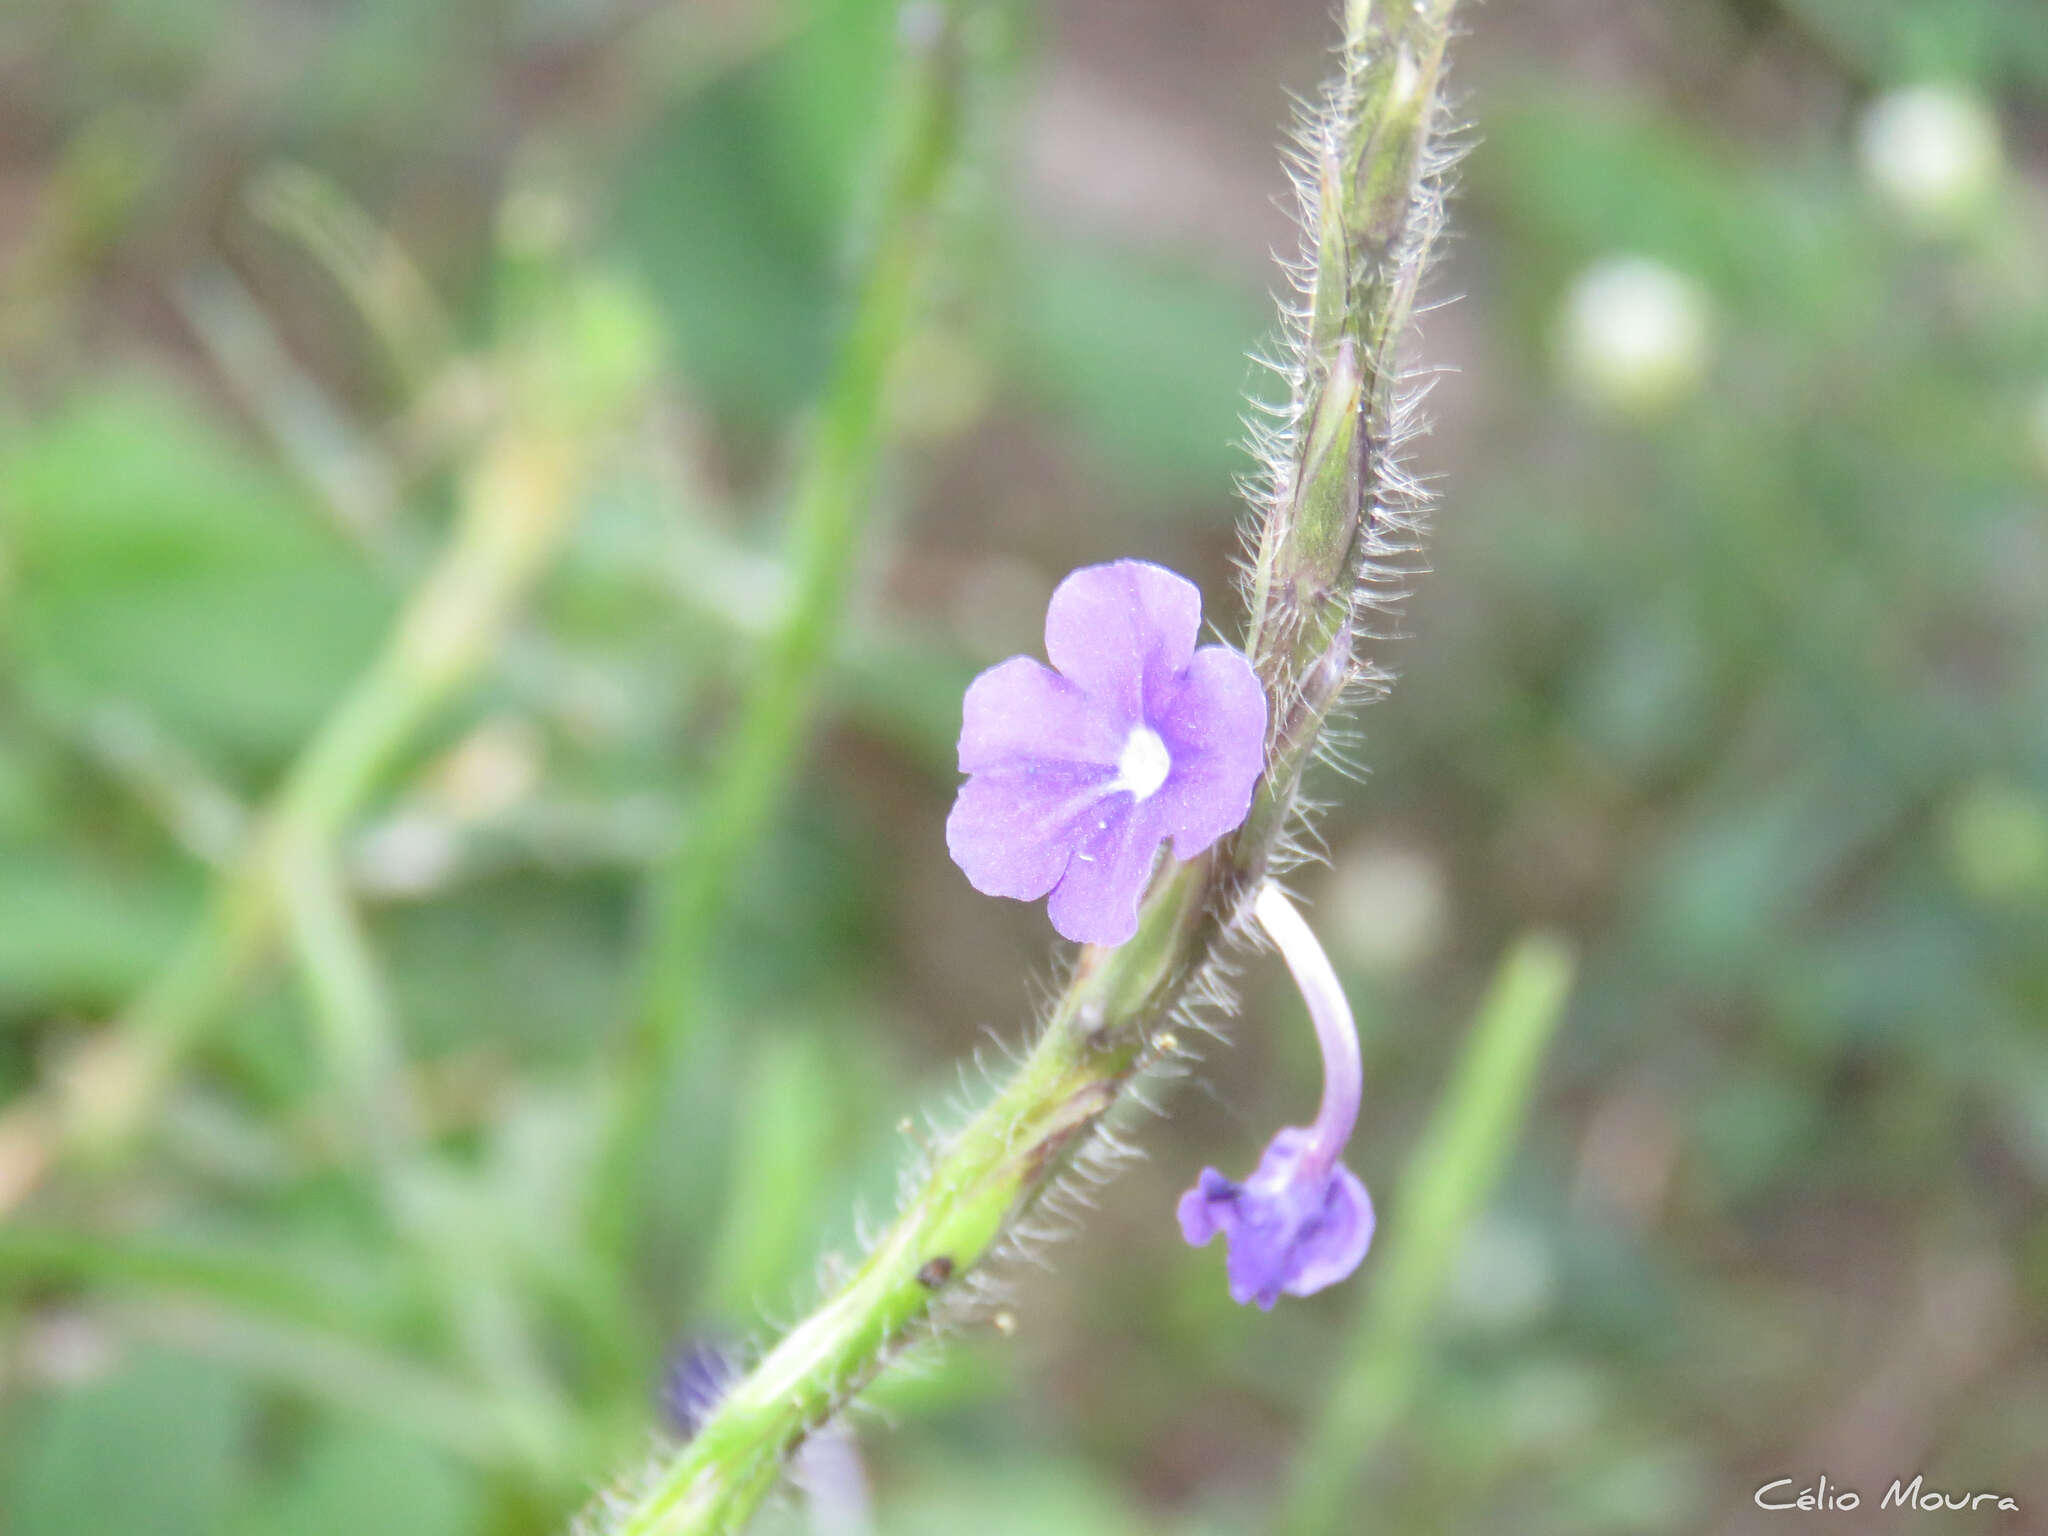
<svg viewBox="0 0 2048 1536">
<path fill-rule="evenodd" d="M 1067 870 L 1112 774 L 1081 764 L 975 774 L 946 817 L 946 852 L 983 895 L 1036 901 Z"/>
</svg>

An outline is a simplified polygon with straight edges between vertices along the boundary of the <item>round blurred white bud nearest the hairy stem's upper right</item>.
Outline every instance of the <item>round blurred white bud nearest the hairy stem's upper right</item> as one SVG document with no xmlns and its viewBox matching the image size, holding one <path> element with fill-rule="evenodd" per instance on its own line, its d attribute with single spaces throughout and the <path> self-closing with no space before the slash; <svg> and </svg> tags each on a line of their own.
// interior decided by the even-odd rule
<svg viewBox="0 0 2048 1536">
<path fill-rule="evenodd" d="M 1683 272 L 1647 256 L 1595 262 L 1565 297 L 1559 365 L 1589 406 L 1659 416 L 1706 375 L 1712 305 Z"/>
</svg>

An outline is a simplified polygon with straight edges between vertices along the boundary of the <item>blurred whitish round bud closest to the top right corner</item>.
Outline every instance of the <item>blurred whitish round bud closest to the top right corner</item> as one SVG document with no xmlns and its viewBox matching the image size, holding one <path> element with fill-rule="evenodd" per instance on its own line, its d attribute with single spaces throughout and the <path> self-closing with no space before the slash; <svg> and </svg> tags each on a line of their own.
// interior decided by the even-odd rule
<svg viewBox="0 0 2048 1536">
<path fill-rule="evenodd" d="M 1960 229 L 1999 184 L 1999 123 L 1950 86 L 1878 96 L 1855 137 L 1872 190 L 1919 233 Z"/>
</svg>

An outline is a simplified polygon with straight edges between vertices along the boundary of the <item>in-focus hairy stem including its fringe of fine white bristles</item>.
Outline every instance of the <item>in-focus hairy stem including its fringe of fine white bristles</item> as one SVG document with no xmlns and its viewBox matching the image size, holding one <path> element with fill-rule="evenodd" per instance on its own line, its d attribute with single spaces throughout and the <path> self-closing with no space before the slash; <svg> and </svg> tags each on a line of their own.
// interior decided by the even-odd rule
<svg viewBox="0 0 2048 1536">
<path fill-rule="evenodd" d="M 877 1372 L 985 1313 L 1016 1260 L 1049 1264 L 1092 1190 L 1137 1157 L 1114 1116 L 1157 1112 L 1147 1090 L 1190 1071 L 1194 1036 L 1221 1036 L 1257 893 L 1327 860 L 1303 774 L 1325 760 L 1362 772 L 1356 739 L 1329 727 L 1391 686 L 1378 649 L 1399 637 L 1425 569 L 1432 485 L 1405 459 L 1436 375 L 1407 369 L 1401 346 L 1456 158 L 1436 143 L 1450 8 L 1350 0 L 1339 78 L 1296 115 L 1286 172 L 1303 240 L 1282 264 L 1276 344 L 1260 356 L 1278 389 L 1245 412 L 1245 649 L 1270 721 L 1245 823 L 1161 868 L 1139 938 L 1081 950 L 1051 995 L 1032 987 L 1040 1024 L 1022 1059 L 989 1036 L 973 1073 L 961 1065 L 889 1229 L 864 1235 L 844 1286 L 657 1479 L 623 1507 L 600 1501 L 618 1532 L 735 1528 L 793 1448 Z M 995 1063 L 1010 1063 L 1008 1081 L 993 1081 Z"/>
</svg>

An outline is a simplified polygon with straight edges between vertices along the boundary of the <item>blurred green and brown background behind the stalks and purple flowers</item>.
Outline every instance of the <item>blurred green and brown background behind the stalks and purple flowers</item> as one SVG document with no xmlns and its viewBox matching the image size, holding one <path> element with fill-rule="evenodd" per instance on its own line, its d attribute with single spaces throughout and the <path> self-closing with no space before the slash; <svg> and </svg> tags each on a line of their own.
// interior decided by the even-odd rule
<svg viewBox="0 0 2048 1536">
<path fill-rule="evenodd" d="M 887 1214 L 899 1122 L 1028 1026 L 1042 911 L 944 852 L 958 694 L 1098 559 L 1188 571 L 1233 629 L 1321 0 L 999 16 L 813 729 L 643 1229 L 588 1237 L 649 868 L 788 592 L 895 10 L 0 18 L 8 1536 L 561 1530 L 641 1454 L 664 1354 L 801 1315 Z M 1925 1473 L 2017 1530 L 2048 1509 L 2048 12 L 1464 25 L 1458 301 L 1415 344 L 1434 573 L 1303 881 L 1382 1204 L 1513 938 L 1581 969 L 1346 1528 L 1765 1530 L 1751 1491 L 1825 1470 L 1872 1528 Z M 252 961 L 139 1155 L 74 1163 L 49 1085 L 90 1098 L 532 422 L 582 455 L 573 518 L 334 823 L 360 932 Z M 1274 971 L 1012 1276 L 1014 1327 L 856 1419 L 879 1530 L 1268 1528 L 1374 1276 L 1239 1311 L 1174 1227 L 1313 1102 Z M 350 1055 L 365 1016 L 395 1061 Z"/>
</svg>

